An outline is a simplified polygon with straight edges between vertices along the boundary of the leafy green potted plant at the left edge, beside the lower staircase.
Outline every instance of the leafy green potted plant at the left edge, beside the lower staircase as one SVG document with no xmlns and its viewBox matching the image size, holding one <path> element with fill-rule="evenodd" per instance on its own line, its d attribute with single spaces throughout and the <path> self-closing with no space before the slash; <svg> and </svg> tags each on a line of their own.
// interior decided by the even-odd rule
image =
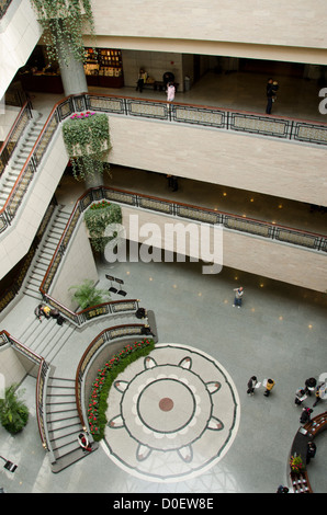
<svg viewBox="0 0 327 515">
<path fill-rule="evenodd" d="M 5 389 L 4 399 L 0 399 L 0 421 L 2 426 L 12 435 L 20 433 L 29 421 L 29 409 L 16 393 L 16 386 L 11 385 Z"/>
</svg>

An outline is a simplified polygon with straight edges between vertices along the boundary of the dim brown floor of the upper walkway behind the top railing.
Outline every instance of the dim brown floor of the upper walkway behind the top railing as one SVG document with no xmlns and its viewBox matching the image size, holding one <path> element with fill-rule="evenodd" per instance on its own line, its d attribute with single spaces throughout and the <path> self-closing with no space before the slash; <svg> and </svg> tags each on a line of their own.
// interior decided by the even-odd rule
<svg viewBox="0 0 327 515">
<path fill-rule="evenodd" d="M 267 75 L 235 71 L 232 73 L 205 73 L 189 91 L 178 91 L 176 102 L 240 110 L 257 114 L 266 112 Z M 272 115 L 296 119 L 327 123 L 326 114 L 319 112 L 322 98 L 317 80 L 300 79 L 287 76 L 279 78 L 278 101 L 273 105 Z M 89 87 L 90 93 L 113 94 L 149 100 L 166 100 L 165 91 L 146 89 L 143 93 L 134 87 L 99 88 Z M 49 114 L 54 104 L 61 100 L 63 94 L 30 92 L 33 106 L 44 114 Z"/>
</svg>

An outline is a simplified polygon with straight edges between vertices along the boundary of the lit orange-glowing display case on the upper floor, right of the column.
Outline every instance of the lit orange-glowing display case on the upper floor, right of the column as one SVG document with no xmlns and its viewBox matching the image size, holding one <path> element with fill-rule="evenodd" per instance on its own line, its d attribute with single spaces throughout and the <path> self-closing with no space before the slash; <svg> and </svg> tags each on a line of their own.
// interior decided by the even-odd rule
<svg viewBox="0 0 327 515">
<path fill-rule="evenodd" d="M 84 70 L 89 85 L 122 88 L 124 85 L 122 52 L 86 48 Z"/>
</svg>

